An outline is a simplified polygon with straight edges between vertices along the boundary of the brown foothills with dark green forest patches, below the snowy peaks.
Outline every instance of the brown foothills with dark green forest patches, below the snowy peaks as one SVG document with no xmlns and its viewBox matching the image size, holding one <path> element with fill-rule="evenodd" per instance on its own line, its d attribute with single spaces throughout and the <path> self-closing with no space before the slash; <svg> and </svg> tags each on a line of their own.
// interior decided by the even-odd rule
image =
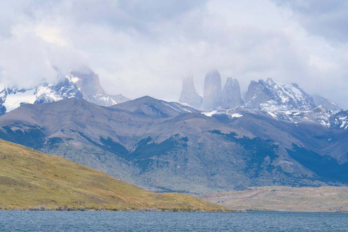
<svg viewBox="0 0 348 232">
<path fill-rule="evenodd" d="M 159 192 L 348 182 L 348 130 L 235 111 L 243 116 L 207 117 L 150 97 L 112 107 L 71 98 L 2 115 L 0 138 Z"/>
</svg>

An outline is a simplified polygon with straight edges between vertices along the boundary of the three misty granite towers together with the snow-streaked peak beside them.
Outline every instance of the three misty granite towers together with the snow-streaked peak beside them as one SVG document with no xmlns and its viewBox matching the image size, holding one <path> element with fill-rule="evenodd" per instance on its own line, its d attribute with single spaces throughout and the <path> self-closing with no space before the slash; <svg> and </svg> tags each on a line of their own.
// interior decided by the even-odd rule
<svg viewBox="0 0 348 232">
<path fill-rule="evenodd" d="M 296 83 L 287 84 L 271 78 L 266 81 L 251 81 L 242 98 L 237 79 L 227 78 L 221 89 L 221 76 L 217 70 L 206 74 L 203 94 L 203 102 L 199 104 L 199 96 L 190 74 L 183 80 L 179 102 L 203 111 L 230 109 L 241 105 L 269 112 L 310 110 L 319 105 L 328 110 L 342 109 L 320 95 L 315 95 L 314 98 L 309 96 Z"/>
</svg>

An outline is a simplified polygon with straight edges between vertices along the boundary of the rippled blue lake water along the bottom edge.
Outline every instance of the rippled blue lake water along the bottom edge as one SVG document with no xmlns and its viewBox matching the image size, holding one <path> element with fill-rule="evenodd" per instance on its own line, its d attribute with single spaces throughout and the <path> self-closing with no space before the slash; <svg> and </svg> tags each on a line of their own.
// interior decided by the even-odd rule
<svg viewBox="0 0 348 232">
<path fill-rule="evenodd" d="M 0 232 L 103 231 L 348 231 L 340 213 L 201 213 L 120 211 L 0 211 Z"/>
</svg>

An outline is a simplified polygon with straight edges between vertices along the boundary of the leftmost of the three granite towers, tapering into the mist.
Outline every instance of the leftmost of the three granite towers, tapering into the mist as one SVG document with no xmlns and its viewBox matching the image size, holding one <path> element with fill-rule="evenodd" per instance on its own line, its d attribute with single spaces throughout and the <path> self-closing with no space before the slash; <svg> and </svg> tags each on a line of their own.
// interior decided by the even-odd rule
<svg viewBox="0 0 348 232">
<path fill-rule="evenodd" d="M 195 85 L 193 84 L 192 73 L 187 72 L 182 81 L 179 103 L 200 109 L 202 102 L 203 98 L 197 94 Z"/>
</svg>

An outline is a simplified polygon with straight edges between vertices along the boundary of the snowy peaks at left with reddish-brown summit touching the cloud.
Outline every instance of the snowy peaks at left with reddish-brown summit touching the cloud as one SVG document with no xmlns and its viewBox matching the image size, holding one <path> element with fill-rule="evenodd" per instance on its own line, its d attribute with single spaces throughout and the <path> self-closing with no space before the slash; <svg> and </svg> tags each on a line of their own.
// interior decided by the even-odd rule
<svg viewBox="0 0 348 232">
<path fill-rule="evenodd" d="M 0 85 L 0 115 L 26 103 L 55 102 L 71 97 L 84 98 L 102 106 L 111 106 L 130 100 L 122 94 L 106 94 L 99 83 L 98 75 L 91 69 L 84 68 L 79 71 L 71 71 L 66 76 L 60 75 L 56 83 L 42 81 L 40 85 L 31 89 Z"/>
</svg>

